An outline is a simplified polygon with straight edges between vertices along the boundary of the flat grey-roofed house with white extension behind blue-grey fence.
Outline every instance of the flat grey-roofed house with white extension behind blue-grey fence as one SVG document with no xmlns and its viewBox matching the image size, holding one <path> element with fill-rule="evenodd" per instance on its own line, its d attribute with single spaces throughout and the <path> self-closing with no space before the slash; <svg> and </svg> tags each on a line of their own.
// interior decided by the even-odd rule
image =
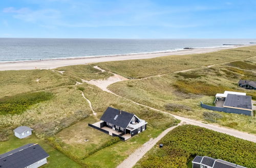
<svg viewBox="0 0 256 168">
<path fill-rule="evenodd" d="M 203 108 L 210 110 L 223 111 L 226 113 L 243 114 L 252 116 L 251 96 L 246 96 L 246 93 L 225 91 L 216 94 L 214 101 L 216 106 L 209 106 L 201 102 Z"/>
</svg>

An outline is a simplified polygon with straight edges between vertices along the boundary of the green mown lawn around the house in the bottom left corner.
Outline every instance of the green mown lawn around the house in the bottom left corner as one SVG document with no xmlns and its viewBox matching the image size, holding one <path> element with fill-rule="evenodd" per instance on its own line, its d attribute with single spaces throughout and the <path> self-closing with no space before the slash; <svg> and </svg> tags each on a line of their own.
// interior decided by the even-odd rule
<svg viewBox="0 0 256 168">
<path fill-rule="evenodd" d="M 50 147 L 41 139 L 36 138 L 33 134 L 24 139 L 19 139 L 11 135 L 8 141 L 0 142 L 0 154 L 30 143 L 39 144 L 50 155 L 50 157 L 47 158 L 48 163 L 42 167 L 81 167 L 61 152 Z"/>
</svg>

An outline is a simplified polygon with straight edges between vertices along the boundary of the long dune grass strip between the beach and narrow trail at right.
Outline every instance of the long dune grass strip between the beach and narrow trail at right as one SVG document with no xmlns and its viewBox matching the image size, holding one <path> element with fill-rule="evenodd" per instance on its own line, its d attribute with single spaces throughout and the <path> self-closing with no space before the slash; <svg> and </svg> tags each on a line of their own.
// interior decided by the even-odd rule
<svg viewBox="0 0 256 168">
<path fill-rule="evenodd" d="M 251 46 L 202 54 L 170 55 L 154 59 L 103 62 L 95 65 L 127 78 L 143 78 L 240 59 L 242 60 L 255 57 L 255 54 L 256 46 Z"/>
</svg>

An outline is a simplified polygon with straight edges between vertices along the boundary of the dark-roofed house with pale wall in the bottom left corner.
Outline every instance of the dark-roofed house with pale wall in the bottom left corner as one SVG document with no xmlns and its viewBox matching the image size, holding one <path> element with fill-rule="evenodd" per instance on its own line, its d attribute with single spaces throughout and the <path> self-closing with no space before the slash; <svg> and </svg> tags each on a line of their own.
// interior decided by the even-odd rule
<svg viewBox="0 0 256 168">
<path fill-rule="evenodd" d="M 38 144 L 27 144 L 0 155 L 1 168 L 35 168 L 47 163 L 46 153 Z"/>
</svg>

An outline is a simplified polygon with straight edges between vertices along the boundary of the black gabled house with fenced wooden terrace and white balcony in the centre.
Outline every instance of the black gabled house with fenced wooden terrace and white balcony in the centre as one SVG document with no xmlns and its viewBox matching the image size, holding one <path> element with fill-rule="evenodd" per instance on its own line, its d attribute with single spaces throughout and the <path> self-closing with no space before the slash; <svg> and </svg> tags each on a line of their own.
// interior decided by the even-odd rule
<svg viewBox="0 0 256 168">
<path fill-rule="evenodd" d="M 112 107 L 108 107 L 105 110 L 100 120 L 100 122 L 89 124 L 89 126 L 112 136 L 118 136 L 123 141 L 144 131 L 147 124 L 147 122 L 132 113 Z"/>
</svg>

